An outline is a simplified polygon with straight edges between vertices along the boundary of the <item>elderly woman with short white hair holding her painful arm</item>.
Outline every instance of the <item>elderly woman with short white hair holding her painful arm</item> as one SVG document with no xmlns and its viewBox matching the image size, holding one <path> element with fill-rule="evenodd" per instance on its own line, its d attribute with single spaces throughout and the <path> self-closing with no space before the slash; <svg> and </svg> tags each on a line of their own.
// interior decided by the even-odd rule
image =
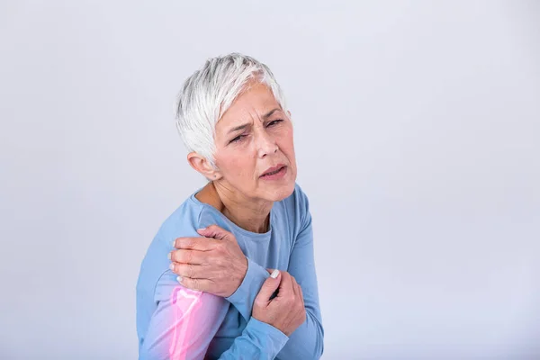
<svg viewBox="0 0 540 360">
<path fill-rule="evenodd" d="M 209 183 L 140 266 L 139 359 L 320 358 L 311 214 L 274 75 L 240 54 L 209 59 L 185 81 L 176 125 Z"/>
</svg>

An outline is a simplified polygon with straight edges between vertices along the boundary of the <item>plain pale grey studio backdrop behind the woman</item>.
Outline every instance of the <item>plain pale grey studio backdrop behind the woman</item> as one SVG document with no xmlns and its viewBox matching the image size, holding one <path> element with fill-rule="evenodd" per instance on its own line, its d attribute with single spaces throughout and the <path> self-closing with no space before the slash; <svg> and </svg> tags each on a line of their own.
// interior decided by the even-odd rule
<svg viewBox="0 0 540 360">
<path fill-rule="evenodd" d="M 175 96 L 265 62 L 311 200 L 323 359 L 540 358 L 540 3 L 3 1 L 0 358 L 135 359 L 204 184 Z"/>
</svg>

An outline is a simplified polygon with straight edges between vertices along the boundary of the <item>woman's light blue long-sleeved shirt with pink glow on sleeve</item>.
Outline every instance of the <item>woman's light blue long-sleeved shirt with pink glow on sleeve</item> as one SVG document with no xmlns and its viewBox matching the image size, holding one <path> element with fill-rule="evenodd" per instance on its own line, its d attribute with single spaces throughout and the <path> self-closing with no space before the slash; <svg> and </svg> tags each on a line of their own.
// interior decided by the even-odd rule
<svg viewBox="0 0 540 360">
<path fill-rule="evenodd" d="M 324 330 L 311 214 L 300 186 L 274 203 L 269 230 L 262 234 L 239 228 L 197 200 L 195 193 L 165 220 L 142 260 L 137 283 L 139 360 L 319 359 Z M 169 270 L 173 240 L 200 237 L 196 229 L 211 224 L 232 232 L 247 257 L 247 274 L 228 298 L 185 289 Z M 302 287 L 306 320 L 290 337 L 251 317 L 269 276 L 266 268 L 289 272 Z"/>
</svg>

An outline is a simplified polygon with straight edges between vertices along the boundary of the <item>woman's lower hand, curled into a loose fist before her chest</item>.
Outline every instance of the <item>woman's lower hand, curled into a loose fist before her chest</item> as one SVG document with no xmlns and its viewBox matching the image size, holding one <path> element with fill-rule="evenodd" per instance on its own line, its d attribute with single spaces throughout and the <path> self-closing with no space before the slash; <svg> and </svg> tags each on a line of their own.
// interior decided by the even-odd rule
<svg viewBox="0 0 540 360">
<path fill-rule="evenodd" d="M 272 269 L 268 271 L 272 273 Z M 275 298 L 269 300 L 278 287 Z M 294 276 L 285 271 L 279 272 L 276 278 L 270 275 L 255 298 L 251 316 L 291 336 L 306 320 L 302 287 Z"/>
</svg>

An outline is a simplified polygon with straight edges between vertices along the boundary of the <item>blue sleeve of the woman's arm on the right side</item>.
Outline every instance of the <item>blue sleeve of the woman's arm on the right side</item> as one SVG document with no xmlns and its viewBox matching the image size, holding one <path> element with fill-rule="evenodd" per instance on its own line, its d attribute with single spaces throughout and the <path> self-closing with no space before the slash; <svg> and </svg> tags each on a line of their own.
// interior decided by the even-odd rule
<svg viewBox="0 0 540 360">
<path fill-rule="evenodd" d="M 303 220 L 301 230 L 293 245 L 288 271 L 302 287 L 306 320 L 294 330 L 276 359 L 319 359 L 324 349 L 324 329 L 315 272 L 311 213 L 307 197 L 305 195 L 302 197 Z"/>
</svg>

